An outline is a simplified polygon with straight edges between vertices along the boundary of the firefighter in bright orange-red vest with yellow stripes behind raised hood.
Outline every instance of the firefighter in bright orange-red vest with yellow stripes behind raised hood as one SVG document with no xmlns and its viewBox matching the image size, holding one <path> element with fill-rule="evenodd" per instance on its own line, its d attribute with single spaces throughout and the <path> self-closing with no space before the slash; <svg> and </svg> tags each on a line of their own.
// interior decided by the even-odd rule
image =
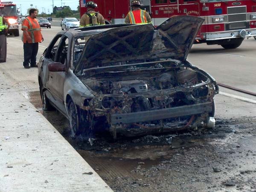
<svg viewBox="0 0 256 192">
<path fill-rule="evenodd" d="M 140 9 L 140 1 L 133 0 L 131 2 L 132 11 L 129 11 L 125 17 L 126 24 L 148 24 L 152 23 L 152 19 L 149 13 L 145 10 Z"/>
</svg>

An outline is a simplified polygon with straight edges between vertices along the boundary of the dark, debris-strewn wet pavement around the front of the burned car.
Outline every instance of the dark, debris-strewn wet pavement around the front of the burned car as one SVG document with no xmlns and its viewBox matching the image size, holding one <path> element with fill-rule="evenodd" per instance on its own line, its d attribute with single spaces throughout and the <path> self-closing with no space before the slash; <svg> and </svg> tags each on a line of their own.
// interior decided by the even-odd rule
<svg viewBox="0 0 256 192">
<path fill-rule="evenodd" d="M 217 118 L 214 129 L 115 142 L 104 133 L 91 146 L 69 138 L 61 113 L 42 111 L 39 92 L 28 97 L 115 192 L 256 191 L 255 118 Z"/>
</svg>

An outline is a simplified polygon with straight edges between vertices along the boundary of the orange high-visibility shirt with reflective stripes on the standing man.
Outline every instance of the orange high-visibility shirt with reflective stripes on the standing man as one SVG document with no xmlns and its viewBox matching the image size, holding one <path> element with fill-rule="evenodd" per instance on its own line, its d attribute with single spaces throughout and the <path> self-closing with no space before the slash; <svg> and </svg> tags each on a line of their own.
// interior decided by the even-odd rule
<svg viewBox="0 0 256 192">
<path fill-rule="evenodd" d="M 22 22 L 22 31 L 28 31 L 29 36 L 32 38 L 32 43 L 42 42 L 42 34 L 41 27 L 36 19 L 32 19 L 31 17 L 27 17 Z M 27 43 L 27 38 L 23 34 L 22 35 L 23 43 Z"/>
</svg>

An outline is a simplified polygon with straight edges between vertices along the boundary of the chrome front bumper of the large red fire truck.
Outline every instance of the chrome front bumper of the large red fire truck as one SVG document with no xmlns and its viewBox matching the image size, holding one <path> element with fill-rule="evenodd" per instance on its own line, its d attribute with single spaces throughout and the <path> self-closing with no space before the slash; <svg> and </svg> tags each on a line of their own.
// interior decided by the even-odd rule
<svg viewBox="0 0 256 192">
<path fill-rule="evenodd" d="M 256 36 L 256 28 L 255 29 L 243 29 L 243 30 L 246 32 L 244 37 Z M 204 33 L 203 38 L 206 40 L 241 38 L 240 32 L 241 32 L 241 30 Z"/>
</svg>

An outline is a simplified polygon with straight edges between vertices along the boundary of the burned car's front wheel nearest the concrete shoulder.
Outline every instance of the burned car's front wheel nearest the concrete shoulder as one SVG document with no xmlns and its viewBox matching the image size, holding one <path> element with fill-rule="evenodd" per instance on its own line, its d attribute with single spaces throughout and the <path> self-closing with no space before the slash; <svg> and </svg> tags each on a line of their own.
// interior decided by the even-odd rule
<svg viewBox="0 0 256 192">
<path fill-rule="evenodd" d="M 68 103 L 68 116 L 70 122 L 70 137 L 76 138 L 79 135 L 79 113 L 72 100 Z"/>
</svg>

